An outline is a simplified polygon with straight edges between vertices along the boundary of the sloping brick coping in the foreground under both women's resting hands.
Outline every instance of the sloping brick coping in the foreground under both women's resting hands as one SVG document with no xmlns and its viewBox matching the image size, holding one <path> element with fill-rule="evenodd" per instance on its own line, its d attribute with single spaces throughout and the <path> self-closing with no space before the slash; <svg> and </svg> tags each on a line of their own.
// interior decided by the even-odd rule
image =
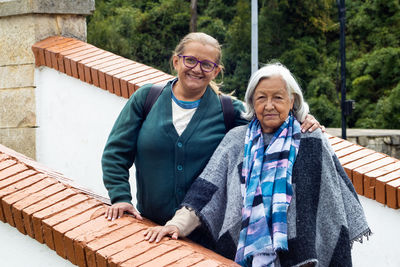
<svg viewBox="0 0 400 267">
<path fill-rule="evenodd" d="M 0 145 L 0 220 L 78 266 L 237 266 L 188 239 L 154 244 L 150 220 L 104 218 L 104 199 Z M 107 202 L 107 201 L 106 201 Z"/>
</svg>

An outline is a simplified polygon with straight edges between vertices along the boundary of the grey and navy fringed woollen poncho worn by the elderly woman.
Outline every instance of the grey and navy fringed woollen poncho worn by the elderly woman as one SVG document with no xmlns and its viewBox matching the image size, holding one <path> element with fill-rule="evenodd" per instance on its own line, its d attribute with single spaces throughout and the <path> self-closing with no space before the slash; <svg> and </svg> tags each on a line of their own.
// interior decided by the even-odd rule
<svg viewBox="0 0 400 267">
<path fill-rule="evenodd" d="M 202 222 L 189 237 L 234 259 L 241 229 L 240 184 L 247 126 L 232 129 L 189 189 L 182 206 Z M 303 133 L 293 166 L 282 266 L 352 266 L 352 242 L 371 231 L 350 179 L 320 130 Z"/>
</svg>

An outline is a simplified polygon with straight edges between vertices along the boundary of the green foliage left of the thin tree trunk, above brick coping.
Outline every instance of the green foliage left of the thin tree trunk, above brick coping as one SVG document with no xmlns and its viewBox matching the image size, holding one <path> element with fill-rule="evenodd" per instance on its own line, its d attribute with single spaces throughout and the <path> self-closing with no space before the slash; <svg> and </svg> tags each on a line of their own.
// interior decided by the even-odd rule
<svg viewBox="0 0 400 267">
<path fill-rule="evenodd" d="M 88 42 L 170 72 L 171 53 L 187 33 L 189 20 L 189 3 L 179 0 L 96 1 Z"/>
</svg>

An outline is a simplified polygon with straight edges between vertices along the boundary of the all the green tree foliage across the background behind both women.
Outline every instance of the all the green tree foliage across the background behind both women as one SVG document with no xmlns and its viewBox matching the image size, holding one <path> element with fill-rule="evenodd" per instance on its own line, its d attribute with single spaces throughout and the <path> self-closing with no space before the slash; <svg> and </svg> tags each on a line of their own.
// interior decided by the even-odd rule
<svg viewBox="0 0 400 267">
<path fill-rule="evenodd" d="M 88 41 L 170 72 L 175 45 L 188 33 L 190 1 L 96 0 Z M 226 92 L 243 98 L 251 71 L 248 0 L 198 0 L 198 30 L 223 47 Z M 285 64 L 303 88 L 310 110 L 339 127 L 339 21 L 335 0 L 259 0 L 260 66 Z M 346 1 L 347 98 L 356 100 L 350 127 L 400 128 L 400 4 Z M 221 79 L 221 77 L 219 78 Z"/>
</svg>

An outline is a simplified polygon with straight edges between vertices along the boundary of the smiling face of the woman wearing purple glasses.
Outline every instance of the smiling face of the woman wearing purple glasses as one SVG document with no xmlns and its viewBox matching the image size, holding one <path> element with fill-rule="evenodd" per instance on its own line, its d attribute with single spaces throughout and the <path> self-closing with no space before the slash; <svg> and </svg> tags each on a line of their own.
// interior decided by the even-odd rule
<svg viewBox="0 0 400 267">
<path fill-rule="evenodd" d="M 183 56 L 193 56 L 197 60 L 217 61 L 218 50 L 211 45 L 204 45 L 192 41 L 185 45 Z M 197 100 L 204 94 L 207 85 L 218 75 L 221 68 L 218 66 L 211 72 L 204 72 L 197 64 L 194 68 L 188 68 L 183 64 L 183 58 L 178 55 L 173 57 L 172 63 L 178 72 L 178 82 L 174 87 L 174 94 L 180 100 Z"/>
</svg>

